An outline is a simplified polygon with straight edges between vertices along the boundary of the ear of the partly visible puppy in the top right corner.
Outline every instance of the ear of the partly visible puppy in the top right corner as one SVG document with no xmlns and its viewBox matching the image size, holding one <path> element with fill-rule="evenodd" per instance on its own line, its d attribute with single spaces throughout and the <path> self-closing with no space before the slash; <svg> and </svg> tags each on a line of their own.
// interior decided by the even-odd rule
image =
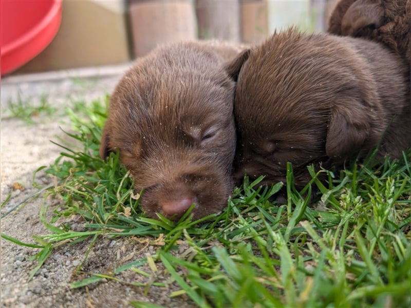
<svg viewBox="0 0 411 308">
<path fill-rule="evenodd" d="M 380 1 L 369 3 L 369 0 L 357 0 L 344 14 L 341 21 L 343 35 L 360 36 L 365 29 L 381 27 L 384 20 L 384 8 Z"/>
</svg>

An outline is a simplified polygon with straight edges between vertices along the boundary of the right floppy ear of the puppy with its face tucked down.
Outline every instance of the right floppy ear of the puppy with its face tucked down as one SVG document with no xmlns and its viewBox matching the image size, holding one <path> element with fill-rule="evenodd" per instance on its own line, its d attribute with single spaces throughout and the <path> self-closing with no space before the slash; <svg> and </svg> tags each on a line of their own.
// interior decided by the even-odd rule
<svg viewBox="0 0 411 308">
<path fill-rule="evenodd" d="M 356 99 L 335 104 L 328 125 L 326 154 L 331 158 L 347 158 L 358 153 L 367 140 L 370 119 L 364 105 Z"/>
</svg>

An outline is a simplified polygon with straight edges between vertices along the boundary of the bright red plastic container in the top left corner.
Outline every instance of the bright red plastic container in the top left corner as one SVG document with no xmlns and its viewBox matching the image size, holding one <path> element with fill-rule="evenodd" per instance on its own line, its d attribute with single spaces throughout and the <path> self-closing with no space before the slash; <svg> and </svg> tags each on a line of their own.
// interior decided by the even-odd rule
<svg viewBox="0 0 411 308">
<path fill-rule="evenodd" d="M 38 55 L 61 23 L 62 0 L 0 0 L 2 75 Z"/>
</svg>

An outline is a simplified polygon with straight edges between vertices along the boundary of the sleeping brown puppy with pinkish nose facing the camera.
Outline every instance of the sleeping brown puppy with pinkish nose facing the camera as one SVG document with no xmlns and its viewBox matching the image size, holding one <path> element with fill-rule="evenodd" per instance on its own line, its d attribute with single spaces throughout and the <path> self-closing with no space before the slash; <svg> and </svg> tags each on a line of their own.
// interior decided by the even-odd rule
<svg viewBox="0 0 411 308">
<path fill-rule="evenodd" d="M 144 189 L 141 205 L 178 219 L 218 212 L 232 191 L 235 151 L 234 82 L 222 64 L 241 49 L 179 43 L 137 61 L 110 97 L 100 156 L 119 149 Z"/>
</svg>

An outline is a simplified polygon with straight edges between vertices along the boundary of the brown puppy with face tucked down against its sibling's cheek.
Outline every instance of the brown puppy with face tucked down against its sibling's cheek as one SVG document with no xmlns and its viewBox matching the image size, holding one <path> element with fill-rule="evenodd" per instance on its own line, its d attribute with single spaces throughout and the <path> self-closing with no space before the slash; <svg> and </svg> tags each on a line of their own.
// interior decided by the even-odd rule
<svg viewBox="0 0 411 308">
<path fill-rule="evenodd" d="M 382 44 L 294 29 L 239 54 L 227 65 L 237 80 L 235 175 L 296 187 L 307 166 L 342 166 L 381 141 L 378 157 L 410 147 L 409 83 L 399 56 Z"/>
</svg>

